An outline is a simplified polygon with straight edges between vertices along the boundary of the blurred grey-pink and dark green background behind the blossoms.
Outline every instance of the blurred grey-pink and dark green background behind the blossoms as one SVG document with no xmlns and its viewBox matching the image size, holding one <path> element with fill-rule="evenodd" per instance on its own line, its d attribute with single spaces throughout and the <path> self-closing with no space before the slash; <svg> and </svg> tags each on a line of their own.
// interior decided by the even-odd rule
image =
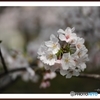
<svg viewBox="0 0 100 100">
<path fill-rule="evenodd" d="M 40 44 L 48 40 L 50 34 L 56 35 L 58 29 L 66 27 L 75 27 L 77 35 L 85 39 L 90 61 L 84 73 L 100 74 L 100 7 L 0 7 L 2 52 L 17 49 L 37 61 Z M 99 80 L 66 79 L 59 73 L 47 88 L 40 88 L 41 79 L 33 82 L 25 77 L 17 77 L 1 88 L 0 93 L 70 93 L 100 89 Z"/>
</svg>

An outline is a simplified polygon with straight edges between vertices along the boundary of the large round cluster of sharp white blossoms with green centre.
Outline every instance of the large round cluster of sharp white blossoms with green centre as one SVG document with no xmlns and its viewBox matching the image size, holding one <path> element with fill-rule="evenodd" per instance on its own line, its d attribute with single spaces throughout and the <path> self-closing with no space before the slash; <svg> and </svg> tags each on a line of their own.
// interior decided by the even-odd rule
<svg viewBox="0 0 100 100">
<path fill-rule="evenodd" d="M 61 75 L 66 75 L 66 78 L 78 76 L 86 68 L 85 62 L 89 60 L 84 39 L 78 37 L 74 30 L 69 27 L 65 31 L 59 29 L 58 37 L 51 34 L 50 40 L 44 42 L 37 52 L 38 58 L 49 69 L 58 63 L 59 67 L 54 69 L 59 70 Z"/>
</svg>

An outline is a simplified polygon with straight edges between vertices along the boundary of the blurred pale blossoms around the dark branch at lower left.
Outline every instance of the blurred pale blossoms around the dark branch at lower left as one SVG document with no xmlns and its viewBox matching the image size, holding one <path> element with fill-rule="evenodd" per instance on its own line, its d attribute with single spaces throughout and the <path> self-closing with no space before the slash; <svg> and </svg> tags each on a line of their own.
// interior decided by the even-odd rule
<svg viewBox="0 0 100 100">
<path fill-rule="evenodd" d="M 21 75 L 25 81 L 28 80 L 28 78 L 29 79 L 32 79 L 32 77 L 34 78 L 35 72 L 29 66 L 29 63 L 27 59 L 23 56 L 23 54 L 17 50 L 11 50 L 11 51 L 12 51 L 11 53 L 4 55 L 8 69 L 11 70 L 11 69 L 17 69 L 17 68 L 26 68 L 25 72 L 19 71 L 19 72 L 13 73 L 12 74 L 13 79 L 16 79 L 17 76 L 21 76 Z"/>
</svg>

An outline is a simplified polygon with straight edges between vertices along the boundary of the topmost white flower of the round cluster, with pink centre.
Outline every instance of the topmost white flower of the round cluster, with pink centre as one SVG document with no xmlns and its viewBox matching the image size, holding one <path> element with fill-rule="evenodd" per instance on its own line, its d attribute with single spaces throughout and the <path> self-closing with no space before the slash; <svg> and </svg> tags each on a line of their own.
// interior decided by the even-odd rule
<svg viewBox="0 0 100 100">
<path fill-rule="evenodd" d="M 77 36 L 75 33 L 73 33 L 73 28 L 66 28 L 65 31 L 63 31 L 62 29 L 58 30 L 59 33 L 59 39 L 61 41 L 66 41 L 68 43 L 74 43 L 75 40 L 77 39 Z"/>
</svg>

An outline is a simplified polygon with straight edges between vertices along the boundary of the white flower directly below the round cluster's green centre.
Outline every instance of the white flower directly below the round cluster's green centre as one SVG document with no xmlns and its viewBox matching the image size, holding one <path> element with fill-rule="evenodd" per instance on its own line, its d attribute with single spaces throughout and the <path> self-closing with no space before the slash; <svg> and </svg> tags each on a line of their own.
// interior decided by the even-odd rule
<svg viewBox="0 0 100 100">
<path fill-rule="evenodd" d="M 71 57 L 70 53 L 64 53 L 61 59 L 61 65 L 64 70 L 69 68 L 75 68 L 75 61 Z"/>
</svg>

